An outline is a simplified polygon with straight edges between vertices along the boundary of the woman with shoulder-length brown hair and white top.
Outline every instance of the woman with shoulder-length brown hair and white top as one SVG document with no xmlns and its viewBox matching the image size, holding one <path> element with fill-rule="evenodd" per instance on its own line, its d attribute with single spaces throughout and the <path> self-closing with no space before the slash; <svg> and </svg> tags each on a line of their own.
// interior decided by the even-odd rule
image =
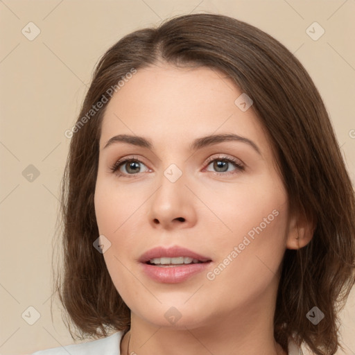
<svg viewBox="0 0 355 355">
<path fill-rule="evenodd" d="M 222 15 L 135 31 L 66 135 L 58 292 L 106 338 L 36 354 L 336 353 L 354 191 L 282 44 Z"/>
</svg>

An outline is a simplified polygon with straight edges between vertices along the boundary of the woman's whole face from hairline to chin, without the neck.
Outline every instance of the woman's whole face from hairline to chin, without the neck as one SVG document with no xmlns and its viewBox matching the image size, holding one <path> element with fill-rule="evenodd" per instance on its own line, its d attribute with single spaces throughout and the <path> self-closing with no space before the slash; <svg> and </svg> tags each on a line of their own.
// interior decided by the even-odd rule
<svg viewBox="0 0 355 355">
<path fill-rule="evenodd" d="M 223 73 L 167 64 L 107 104 L 96 218 L 132 318 L 192 329 L 273 313 L 288 200 L 249 105 Z"/>
</svg>

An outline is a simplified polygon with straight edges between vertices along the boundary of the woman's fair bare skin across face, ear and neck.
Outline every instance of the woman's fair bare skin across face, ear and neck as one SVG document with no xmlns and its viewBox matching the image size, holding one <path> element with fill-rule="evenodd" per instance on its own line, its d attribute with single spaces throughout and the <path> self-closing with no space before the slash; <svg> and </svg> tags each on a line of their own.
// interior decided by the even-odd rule
<svg viewBox="0 0 355 355">
<path fill-rule="evenodd" d="M 243 112 L 234 104 L 241 94 L 216 70 L 159 63 L 139 69 L 107 104 L 95 209 L 98 230 L 111 243 L 103 254 L 107 269 L 131 310 L 121 354 L 128 354 L 129 336 L 129 354 L 286 354 L 273 338 L 278 275 L 286 248 L 309 243 L 311 229 L 290 215 L 266 131 L 252 107 Z M 193 139 L 220 133 L 252 140 L 261 154 L 238 141 L 189 150 Z M 144 136 L 153 148 L 104 148 L 119 134 Z M 110 166 L 132 155 L 140 171 L 128 163 L 119 168 L 123 175 L 112 173 Z M 235 158 L 244 169 L 229 163 L 223 172 L 209 157 Z M 164 176 L 170 164 L 182 171 L 176 182 Z M 207 279 L 275 209 L 272 222 Z M 137 260 L 159 245 L 180 245 L 212 262 L 185 282 L 155 282 Z M 172 306 L 181 315 L 175 324 L 164 317 Z"/>
</svg>

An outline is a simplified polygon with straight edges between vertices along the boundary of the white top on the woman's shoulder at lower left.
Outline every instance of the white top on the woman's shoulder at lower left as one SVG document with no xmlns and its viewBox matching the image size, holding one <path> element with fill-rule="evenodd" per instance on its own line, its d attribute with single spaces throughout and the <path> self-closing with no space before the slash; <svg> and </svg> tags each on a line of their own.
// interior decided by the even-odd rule
<svg viewBox="0 0 355 355">
<path fill-rule="evenodd" d="M 87 343 L 46 349 L 40 352 L 35 352 L 32 355 L 119 355 L 121 336 L 122 332 L 119 331 L 112 334 L 112 336 L 107 336 L 107 338 L 89 341 Z"/>
</svg>

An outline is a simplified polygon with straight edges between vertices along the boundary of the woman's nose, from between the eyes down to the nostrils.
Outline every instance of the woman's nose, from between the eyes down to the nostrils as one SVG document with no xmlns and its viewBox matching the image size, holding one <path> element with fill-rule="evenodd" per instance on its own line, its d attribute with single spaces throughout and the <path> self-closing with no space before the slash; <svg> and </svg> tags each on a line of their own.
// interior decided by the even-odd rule
<svg viewBox="0 0 355 355">
<path fill-rule="evenodd" d="M 149 199 L 150 225 L 164 230 L 193 227 L 197 218 L 197 201 L 186 186 L 187 178 L 184 173 L 175 182 L 162 175 L 159 183 L 159 188 Z"/>
</svg>

